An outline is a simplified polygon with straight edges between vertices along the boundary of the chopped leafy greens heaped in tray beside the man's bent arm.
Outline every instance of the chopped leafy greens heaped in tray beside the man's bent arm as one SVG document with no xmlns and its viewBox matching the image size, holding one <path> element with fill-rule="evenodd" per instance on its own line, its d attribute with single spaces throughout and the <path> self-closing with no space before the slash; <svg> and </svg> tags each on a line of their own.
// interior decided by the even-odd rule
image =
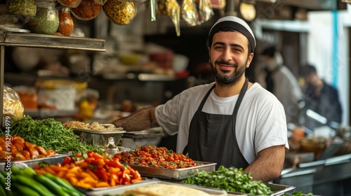
<svg viewBox="0 0 351 196">
<path fill-rule="evenodd" d="M 183 180 L 182 183 L 251 195 L 270 195 L 273 193 L 263 181 L 253 181 L 251 174 L 245 174 L 242 168 L 226 168 L 223 165 L 213 172 L 197 172 L 194 176 Z"/>
</svg>

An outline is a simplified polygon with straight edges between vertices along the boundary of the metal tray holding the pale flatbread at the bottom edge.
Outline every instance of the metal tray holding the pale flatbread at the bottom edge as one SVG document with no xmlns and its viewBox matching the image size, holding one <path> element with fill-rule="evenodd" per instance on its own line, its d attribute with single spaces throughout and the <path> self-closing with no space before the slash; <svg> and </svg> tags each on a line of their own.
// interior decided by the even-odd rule
<svg viewBox="0 0 351 196">
<path fill-rule="evenodd" d="M 107 188 L 105 190 L 99 190 L 99 191 L 88 191 L 85 194 L 87 196 L 118 195 L 118 194 L 123 194 L 124 191 L 126 191 L 126 190 L 131 190 L 133 188 L 139 188 L 139 187 L 143 187 L 143 186 L 149 186 L 149 185 L 160 184 L 160 183 L 195 188 L 198 190 L 202 190 L 205 193 L 211 194 L 213 196 L 216 196 L 216 195 L 227 196 L 227 192 L 225 190 L 217 190 L 217 189 L 212 189 L 212 188 L 204 188 L 204 187 L 200 187 L 200 186 L 185 185 L 185 184 L 181 184 L 181 183 L 171 183 L 171 182 L 159 181 L 159 180 L 145 180 L 145 181 L 140 182 L 140 183 L 135 183 L 135 184 L 126 185 L 126 186 Z M 167 195 L 167 193 L 165 193 L 165 195 Z"/>
</svg>

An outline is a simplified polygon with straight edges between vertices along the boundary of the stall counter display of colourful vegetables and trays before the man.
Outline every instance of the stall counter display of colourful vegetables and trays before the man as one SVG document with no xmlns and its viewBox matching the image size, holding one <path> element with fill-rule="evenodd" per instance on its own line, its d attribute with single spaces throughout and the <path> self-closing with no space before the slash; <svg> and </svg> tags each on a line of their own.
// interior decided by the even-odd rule
<svg viewBox="0 0 351 196">
<path fill-rule="evenodd" d="M 6 150 L 1 151 L 1 181 L 11 179 L 8 185 L 1 185 L 5 193 L 8 186 L 15 195 L 24 194 L 22 190 L 48 195 L 65 195 L 62 191 L 69 195 L 146 194 L 148 188 L 156 195 L 164 194 L 164 188 L 175 195 L 283 195 L 295 189 L 253 181 L 234 167 L 216 170 L 216 163 L 192 160 L 165 147 L 118 146 L 125 131 L 111 125 L 27 116 L 13 120 L 10 126 L 13 137 L 3 132 L 0 140 L 1 148 L 12 153 L 8 157 Z"/>
</svg>

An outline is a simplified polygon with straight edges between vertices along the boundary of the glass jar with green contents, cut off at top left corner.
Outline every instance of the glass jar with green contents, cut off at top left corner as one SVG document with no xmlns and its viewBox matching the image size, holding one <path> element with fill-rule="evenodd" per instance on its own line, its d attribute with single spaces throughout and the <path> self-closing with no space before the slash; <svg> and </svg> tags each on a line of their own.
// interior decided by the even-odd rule
<svg viewBox="0 0 351 196">
<path fill-rule="evenodd" d="M 35 15 L 37 4 L 35 0 L 6 0 L 6 10 L 11 14 Z"/>
</svg>

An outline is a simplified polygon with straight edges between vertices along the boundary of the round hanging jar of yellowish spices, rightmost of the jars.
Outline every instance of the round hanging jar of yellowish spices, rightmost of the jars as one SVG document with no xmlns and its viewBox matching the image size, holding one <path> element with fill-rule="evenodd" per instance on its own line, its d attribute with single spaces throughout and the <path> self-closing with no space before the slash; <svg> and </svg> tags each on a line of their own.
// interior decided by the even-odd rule
<svg viewBox="0 0 351 196">
<path fill-rule="evenodd" d="M 134 2 L 121 2 L 119 0 L 106 1 L 102 9 L 107 18 L 116 25 L 128 25 L 136 15 Z"/>
</svg>

